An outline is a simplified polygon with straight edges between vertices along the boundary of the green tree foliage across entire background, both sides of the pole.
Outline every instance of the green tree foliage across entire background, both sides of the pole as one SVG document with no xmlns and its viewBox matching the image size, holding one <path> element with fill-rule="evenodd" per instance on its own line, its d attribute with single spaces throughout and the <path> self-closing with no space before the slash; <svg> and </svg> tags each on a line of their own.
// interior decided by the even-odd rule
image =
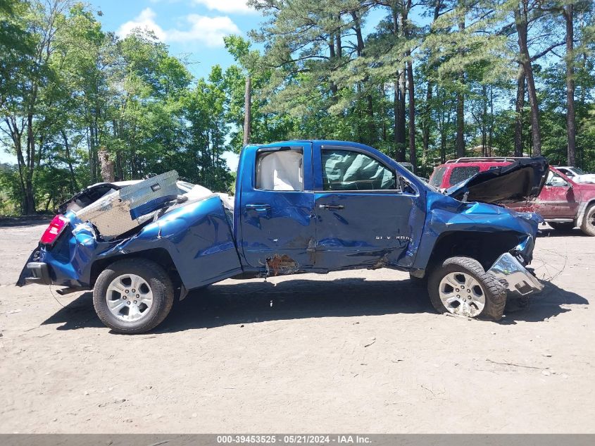
<svg viewBox="0 0 595 446">
<path fill-rule="evenodd" d="M 397 159 L 406 159 L 410 147 L 418 173 L 429 176 L 456 156 L 463 101 L 466 154 L 514 153 L 518 2 L 249 3 L 263 13 L 260 28 L 251 39 L 225 37 L 234 64 L 213 66 L 195 80 L 151 32 L 120 39 L 85 4 L 0 0 L 0 149 L 18 160 L 0 169 L 0 213 L 51 211 L 101 181 L 100 150 L 113 161 L 116 180 L 176 169 L 185 180 L 232 192 L 235 177 L 223 152 L 242 149 L 247 77 L 251 142 L 352 140 Z M 569 3 L 575 47 L 567 55 L 562 8 Z M 570 60 L 577 164 L 595 170 L 593 3 L 531 5 L 542 151 L 565 163 Z M 530 153 L 524 102 L 520 133 Z"/>
</svg>

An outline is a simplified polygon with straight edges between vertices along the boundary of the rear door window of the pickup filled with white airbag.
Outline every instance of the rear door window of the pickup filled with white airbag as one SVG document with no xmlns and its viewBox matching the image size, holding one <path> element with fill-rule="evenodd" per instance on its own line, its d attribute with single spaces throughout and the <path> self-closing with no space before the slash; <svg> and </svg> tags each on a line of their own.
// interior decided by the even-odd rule
<svg viewBox="0 0 595 446">
<path fill-rule="evenodd" d="M 256 189 L 302 191 L 303 152 L 279 150 L 257 154 Z"/>
</svg>

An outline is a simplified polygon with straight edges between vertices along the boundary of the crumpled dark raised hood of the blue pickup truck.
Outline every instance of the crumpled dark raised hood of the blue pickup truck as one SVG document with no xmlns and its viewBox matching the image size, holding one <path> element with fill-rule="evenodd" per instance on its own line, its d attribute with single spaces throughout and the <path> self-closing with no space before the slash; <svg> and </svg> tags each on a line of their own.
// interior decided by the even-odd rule
<svg viewBox="0 0 595 446">
<path fill-rule="evenodd" d="M 514 203 L 532 199 L 544 186 L 549 164 L 543 156 L 476 173 L 444 194 L 463 202 Z"/>
</svg>

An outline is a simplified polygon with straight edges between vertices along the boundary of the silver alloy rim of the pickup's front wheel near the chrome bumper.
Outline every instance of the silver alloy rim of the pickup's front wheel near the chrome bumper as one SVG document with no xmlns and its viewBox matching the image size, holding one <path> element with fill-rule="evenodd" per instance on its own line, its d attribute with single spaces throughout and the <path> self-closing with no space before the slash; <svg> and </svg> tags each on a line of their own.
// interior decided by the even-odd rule
<svg viewBox="0 0 595 446">
<path fill-rule="evenodd" d="M 485 306 L 482 285 L 468 273 L 449 273 L 440 281 L 439 296 L 452 314 L 475 317 Z"/>
</svg>

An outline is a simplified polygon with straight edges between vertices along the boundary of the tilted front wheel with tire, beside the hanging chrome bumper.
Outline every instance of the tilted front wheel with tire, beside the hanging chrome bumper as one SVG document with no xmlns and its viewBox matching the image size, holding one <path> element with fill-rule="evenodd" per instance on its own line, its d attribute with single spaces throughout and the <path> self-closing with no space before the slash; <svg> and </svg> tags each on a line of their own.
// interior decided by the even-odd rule
<svg viewBox="0 0 595 446">
<path fill-rule="evenodd" d="M 439 313 L 499 321 L 506 305 L 506 289 L 470 257 L 451 257 L 434 268 L 427 291 Z"/>
</svg>

